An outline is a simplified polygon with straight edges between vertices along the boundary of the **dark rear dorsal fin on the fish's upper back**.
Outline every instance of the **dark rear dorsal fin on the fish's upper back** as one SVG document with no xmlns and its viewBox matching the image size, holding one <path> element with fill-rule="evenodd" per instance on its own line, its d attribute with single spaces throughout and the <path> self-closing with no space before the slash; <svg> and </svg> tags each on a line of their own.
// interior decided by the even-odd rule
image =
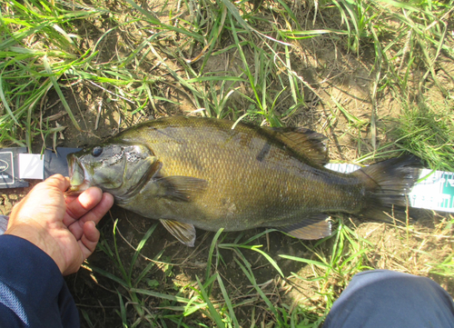
<svg viewBox="0 0 454 328">
<path fill-rule="evenodd" d="M 281 141 L 294 153 L 309 158 L 316 164 L 328 163 L 328 150 L 323 134 L 303 127 L 263 127 L 266 134 Z"/>
</svg>

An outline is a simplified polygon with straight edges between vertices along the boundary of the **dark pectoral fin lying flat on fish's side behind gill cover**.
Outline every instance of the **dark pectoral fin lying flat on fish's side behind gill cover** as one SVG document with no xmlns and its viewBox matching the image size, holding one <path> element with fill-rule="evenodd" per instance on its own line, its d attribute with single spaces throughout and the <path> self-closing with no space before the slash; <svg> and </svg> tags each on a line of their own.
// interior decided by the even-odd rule
<svg viewBox="0 0 454 328">
<path fill-rule="evenodd" d="M 206 180 L 183 175 L 165 176 L 156 182 L 162 190 L 160 196 L 176 202 L 191 202 L 192 198 L 201 194 L 208 185 Z"/>
</svg>

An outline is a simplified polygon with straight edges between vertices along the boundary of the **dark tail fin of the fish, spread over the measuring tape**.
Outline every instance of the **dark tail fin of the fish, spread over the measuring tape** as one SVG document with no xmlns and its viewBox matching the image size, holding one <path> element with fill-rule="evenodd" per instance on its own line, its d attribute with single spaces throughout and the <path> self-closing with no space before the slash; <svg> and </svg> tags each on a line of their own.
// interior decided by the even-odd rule
<svg viewBox="0 0 454 328">
<path fill-rule="evenodd" d="M 390 214 L 405 214 L 407 195 L 419 179 L 421 162 L 415 156 L 400 156 L 353 172 L 366 185 L 365 206 L 360 215 L 390 222 Z"/>
</svg>

